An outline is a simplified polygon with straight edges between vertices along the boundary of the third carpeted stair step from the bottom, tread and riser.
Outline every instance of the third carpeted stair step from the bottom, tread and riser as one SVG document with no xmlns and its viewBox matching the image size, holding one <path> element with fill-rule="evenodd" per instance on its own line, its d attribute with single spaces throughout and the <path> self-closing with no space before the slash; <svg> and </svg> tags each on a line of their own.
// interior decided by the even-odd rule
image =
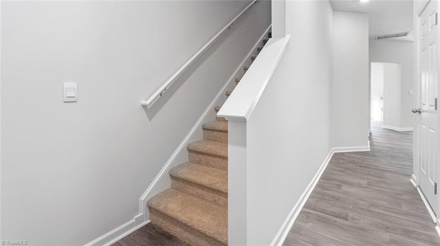
<svg viewBox="0 0 440 246">
<path fill-rule="evenodd" d="M 190 162 L 228 170 L 228 143 L 198 140 L 190 143 L 186 149 Z"/>
</svg>

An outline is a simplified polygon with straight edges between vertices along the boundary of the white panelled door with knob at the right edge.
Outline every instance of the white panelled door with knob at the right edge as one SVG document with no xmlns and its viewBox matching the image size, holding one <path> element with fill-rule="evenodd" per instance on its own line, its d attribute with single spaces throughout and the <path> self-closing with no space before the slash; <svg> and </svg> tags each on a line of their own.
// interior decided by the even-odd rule
<svg viewBox="0 0 440 246">
<path fill-rule="evenodd" d="M 419 186 L 437 213 L 437 1 L 419 14 Z M 413 110 L 415 112 L 416 110 Z M 416 111 L 417 112 L 417 111 Z"/>
</svg>

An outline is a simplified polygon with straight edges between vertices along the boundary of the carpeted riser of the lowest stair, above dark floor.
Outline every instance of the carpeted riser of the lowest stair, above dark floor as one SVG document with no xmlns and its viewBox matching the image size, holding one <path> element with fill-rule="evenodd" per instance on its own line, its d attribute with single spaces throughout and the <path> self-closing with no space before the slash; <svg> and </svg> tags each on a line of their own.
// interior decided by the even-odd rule
<svg viewBox="0 0 440 246">
<path fill-rule="evenodd" d="M 179 238 L 192 246 L 213 245 L 213 246 L 225 246 L 225 243 L 221 243 L 216 239 L 206 236 L 202 232 L 195 230 L 194 228 L 169 217 L 154 208 L 149 208 L 151 223 L 161 227 L 173 236 Z"/>
</svg>

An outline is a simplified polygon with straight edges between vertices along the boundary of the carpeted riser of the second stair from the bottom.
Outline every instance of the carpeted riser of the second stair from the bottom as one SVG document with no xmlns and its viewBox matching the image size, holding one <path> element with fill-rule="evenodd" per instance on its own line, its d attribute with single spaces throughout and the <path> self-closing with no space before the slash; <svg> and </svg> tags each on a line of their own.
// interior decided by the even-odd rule
<svg viewBox="0 0 440 246">
<path fill-rule="evenodd" d="M 219 190 L 212 190 L 212 188 L 201 186 L 188 180 L 181 180 L 173 176 L 171 176 L 171 187 L 218 206 L 228 207 L 228 194 Z"/>
</svg>

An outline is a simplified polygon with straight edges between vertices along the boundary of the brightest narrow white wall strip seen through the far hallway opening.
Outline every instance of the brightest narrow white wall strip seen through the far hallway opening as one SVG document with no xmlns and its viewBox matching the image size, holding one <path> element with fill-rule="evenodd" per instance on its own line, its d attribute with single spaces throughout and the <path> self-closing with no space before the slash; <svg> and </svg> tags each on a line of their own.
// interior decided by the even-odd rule
<svg viewBox="0 0 440 246">
<path fill-rule="evenodd" d="M 384 106 L 384 64 L 371 63 L 371 119 L 383 121 Z"/>
</svg>

